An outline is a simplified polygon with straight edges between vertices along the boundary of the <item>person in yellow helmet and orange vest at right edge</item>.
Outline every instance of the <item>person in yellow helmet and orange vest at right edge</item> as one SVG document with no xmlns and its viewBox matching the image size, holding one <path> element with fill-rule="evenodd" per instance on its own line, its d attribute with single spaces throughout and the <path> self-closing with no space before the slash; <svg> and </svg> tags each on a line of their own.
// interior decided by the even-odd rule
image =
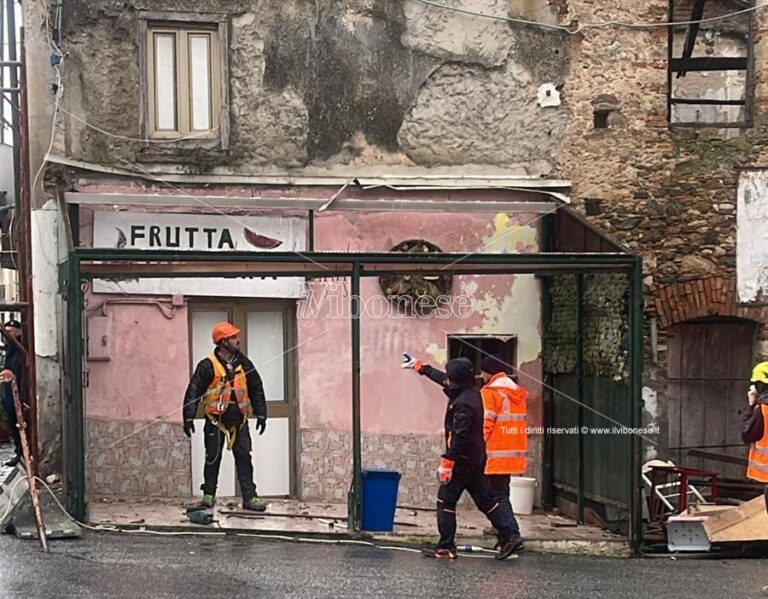
<svg viewBox="0 0 768 599">
<path fill-rule="evenodd" d="M 750 409 L 744 417 L 741 439 L 750 443 L 747 478 L 763 483 L 765 509 L 768 510 L 768 362 L 752 371 L 752 386 L 747 393 Z"/>
</svg>

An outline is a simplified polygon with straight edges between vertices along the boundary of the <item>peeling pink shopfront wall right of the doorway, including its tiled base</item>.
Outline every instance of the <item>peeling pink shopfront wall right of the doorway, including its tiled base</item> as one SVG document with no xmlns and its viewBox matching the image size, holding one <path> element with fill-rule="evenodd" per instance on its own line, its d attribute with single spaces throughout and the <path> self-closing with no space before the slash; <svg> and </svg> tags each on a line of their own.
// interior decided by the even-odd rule
<svg viewBox="0 0 768 599">
<path fill-rule="evenodd" d="M 447 252 L 484 247 L 530 253 L 539 248 L 537 227 L 526 224 L 532 220 L 522 214 L 447 213 L 436 219 L 428 213 L 324 213 L 316 219 L 315 244 L 327 251 L 386 251 L 405 239 L 426 239 Z M 343 281 L 315 280 L 310 298 L 321 299 L 311 311 L 299 307 L 300 478 L 305 499 L 339 500 L 339 489 L 349 483 L 350 329 L 347 318 L 333 317 L 333 298 L 346 306 L 349 292 Z M 460 276 L 454 278 L 452 294 L 469 299 L 466 317 L 384 319 L 363 310 L 361 318 L 363 463 L 399 470 L 400 501 L 413 505 L 434 501 L 428 473 L 444 444 L 446 399 L 435 383 L 399 368 L 401 352 L 442 367 L 448 334 L 516 335 L 520 382 L 530 393 L 528 424 L 542 424 L 539 282 L 531 275 Z M 377 297 L 384 299 L 378 280 L 363 279 L 363 305 Z M 528 474 L 540 473 L 541 439 L 532 435 Z"/>
</svg>

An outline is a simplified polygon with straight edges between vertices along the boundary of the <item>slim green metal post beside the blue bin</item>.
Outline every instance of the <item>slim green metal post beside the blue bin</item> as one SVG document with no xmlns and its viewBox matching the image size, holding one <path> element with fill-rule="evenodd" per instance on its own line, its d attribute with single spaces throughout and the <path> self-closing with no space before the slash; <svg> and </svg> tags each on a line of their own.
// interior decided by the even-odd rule
<svg viewBox="0 0 768 599">
<path fill-rule="evenodd" d="M 361 527 L 362 429 L 360 425 L 360 263 L 352 270 L 352 488 L 347 517 L 350 530 Z"/>
</svg>

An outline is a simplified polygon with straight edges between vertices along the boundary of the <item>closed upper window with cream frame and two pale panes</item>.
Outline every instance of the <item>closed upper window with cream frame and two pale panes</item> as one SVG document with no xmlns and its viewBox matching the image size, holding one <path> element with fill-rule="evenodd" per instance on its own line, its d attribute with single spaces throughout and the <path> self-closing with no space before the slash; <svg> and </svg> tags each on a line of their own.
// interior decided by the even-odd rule
<svg viewBox="0 0 768 599">
<path fill-rule="evenodd" d="M 228 143 L 226 20 L 142 13 L 146 139 Z"/>
</svg>

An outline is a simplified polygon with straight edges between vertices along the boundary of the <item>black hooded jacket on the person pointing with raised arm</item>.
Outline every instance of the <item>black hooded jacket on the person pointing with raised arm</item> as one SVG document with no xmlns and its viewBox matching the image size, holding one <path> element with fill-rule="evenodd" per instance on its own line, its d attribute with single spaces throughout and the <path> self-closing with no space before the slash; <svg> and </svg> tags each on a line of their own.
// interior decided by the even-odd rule
<svg viewBox="0 0 768 599">
<path fill-rule="evenodd" d="M 419 374 L 441 385 L 443 393 L 448 396 L 443 457 L 455 461 L 457 465 L 481 467 L 485 462 L 483 399 L 475 387 L 472 362 L 467 358 L 457 358 L 449 360 L 446 372 L 423 366 Z"/>
</svg>

